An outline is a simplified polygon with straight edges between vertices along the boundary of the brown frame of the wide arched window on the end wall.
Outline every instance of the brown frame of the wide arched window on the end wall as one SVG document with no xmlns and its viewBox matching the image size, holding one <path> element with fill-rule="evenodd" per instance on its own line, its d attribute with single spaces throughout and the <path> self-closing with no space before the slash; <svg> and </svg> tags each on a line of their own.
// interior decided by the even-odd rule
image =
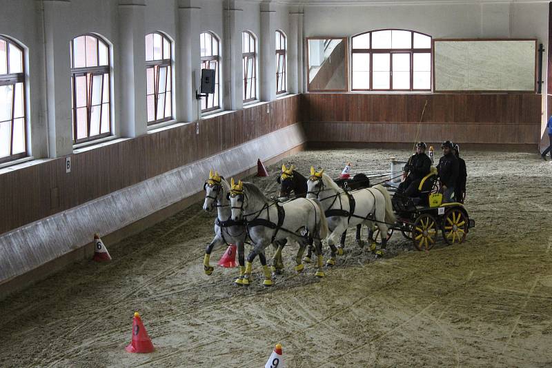
<svg viewBox="0 0 552 368">
<path fill-rule="evenodd" d="M 372 48 L 373 32 L 380 31 L 407 31 L 411 32 L 411 48 Z M 353 39 L 363 34 L 370 34 L 370 47 L 367 49 L 353 48 Z M 414 34 L 421 34 L 429 37 L 430 48 L 414 48 Z M 369 54 L 370 55 L 370 85 L 368 89 L 353 88 L 353 54 Z M 373 88 L 373 54 L 389 54 L 389 88 Z M 410 55 L 410 87 L 409 89 L 393 89 L 393 54 L 409 54 Z M 414 88 L 414 54 L 430 54 L 430 70 L 429 70 L 429 88 L 420 89 Z M 432 92 L 433 91 L 433 37 L 429 34 L 417 32 L 415 30 L 404 30 L 401 28 L 383 28 L 378 30 L 369 30 L 351 36 L 351 91 L 352 92 Z"/>
</svg>

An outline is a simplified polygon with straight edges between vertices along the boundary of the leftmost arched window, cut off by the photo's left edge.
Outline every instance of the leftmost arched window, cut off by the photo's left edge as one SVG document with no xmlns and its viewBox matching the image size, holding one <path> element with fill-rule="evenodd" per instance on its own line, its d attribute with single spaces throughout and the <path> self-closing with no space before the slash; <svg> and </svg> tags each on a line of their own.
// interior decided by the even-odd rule
<svg viewBox="0 0 552 368">
<path fill-rule="evenodd" d="M 0 163 L 27 155 L 23 48 L 0 37 Z"/>
</svg>

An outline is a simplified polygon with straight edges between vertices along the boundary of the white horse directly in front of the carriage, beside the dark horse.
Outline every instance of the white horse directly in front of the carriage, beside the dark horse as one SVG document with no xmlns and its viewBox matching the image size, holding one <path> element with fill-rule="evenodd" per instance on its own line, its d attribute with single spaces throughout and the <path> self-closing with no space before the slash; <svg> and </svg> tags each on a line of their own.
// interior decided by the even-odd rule
<svg viewBox="0 0 552 368">
<path fill-rule="evenodd" d="M 322 203 L 328 227 L 332 232 L 328 236 L 328 245 L 332 253 L 326 262 L 328 265 L 335 264 L 336 253 L 343 254 L 343 250 L 337 249 L 335 244 L 348 227 L 366 224 L 368 228 L 372 228 L 375 223 L 380 229 L 382 249 L 385 249 L 388 225 L 394 224 L 396 218 L 391 196 L 382 185 L 348 193 L 324 174 L 324 170 L 316 172 L 315 168 L 311 167 L 311 177 L 308 178 L 307 186 L 306 197 L 317 198 Z M 383 256 L 382 249 L 376 251 L 376 256 Z"/>
</svg>

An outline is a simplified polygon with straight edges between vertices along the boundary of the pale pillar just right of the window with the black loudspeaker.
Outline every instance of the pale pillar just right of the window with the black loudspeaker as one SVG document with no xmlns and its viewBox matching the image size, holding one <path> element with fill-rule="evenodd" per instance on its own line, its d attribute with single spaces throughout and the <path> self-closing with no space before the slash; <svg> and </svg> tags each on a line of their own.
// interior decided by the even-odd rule
<svg viewBox="0 0 552 368">
<path fill-rule="evenodd" d="M 229 0 L 224 8 L 224 107 L 240 110 L 244 106 L 242 65 L 243 9 L 235 0 Z"/>
</svg>

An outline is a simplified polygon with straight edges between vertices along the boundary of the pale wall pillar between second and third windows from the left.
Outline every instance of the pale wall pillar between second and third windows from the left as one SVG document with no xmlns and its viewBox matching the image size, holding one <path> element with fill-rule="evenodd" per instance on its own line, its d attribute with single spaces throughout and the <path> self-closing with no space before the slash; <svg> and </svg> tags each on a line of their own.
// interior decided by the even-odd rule
<svg viewBox="0 0 552 368">
<path fill-rule="evenodd" d="M 144 0 L 120 0 L 119 80 L 121 92 L 119 132 L 121 136 L 146 134 L 146 41 Z"/>
</svg>

